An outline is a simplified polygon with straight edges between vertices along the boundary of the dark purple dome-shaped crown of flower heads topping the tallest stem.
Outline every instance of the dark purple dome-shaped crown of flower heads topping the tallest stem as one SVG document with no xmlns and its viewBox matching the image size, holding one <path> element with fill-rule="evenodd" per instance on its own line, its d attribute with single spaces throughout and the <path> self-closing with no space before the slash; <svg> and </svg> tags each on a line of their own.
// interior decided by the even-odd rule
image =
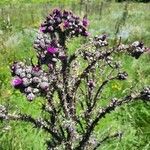
<svg viewBox="0 0 150 150">
<path fill-rule="evenodd" d="M 70 11 L 64 10 L 61 12 L 54 9 L 41 24 L 40 31 L 43 33 L 64 32 L 66 36 L 88 36 L 87 26 L 88 20 L 86 17 L 81 20 Z"/>
</svg>

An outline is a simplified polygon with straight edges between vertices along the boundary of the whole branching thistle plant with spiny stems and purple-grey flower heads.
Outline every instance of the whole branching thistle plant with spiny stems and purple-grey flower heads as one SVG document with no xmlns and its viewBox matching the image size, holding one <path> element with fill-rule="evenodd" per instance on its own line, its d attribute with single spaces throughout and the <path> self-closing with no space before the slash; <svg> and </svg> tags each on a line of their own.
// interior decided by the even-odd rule
<svg viewBox="0 0 150 150">
<path fill-rule="evenodd" d="M 110 100 L 103 95 L 109 83 L 128 79 L 115 55 L 125 53 L 138 59 L 148 48 L 140 41 L 124 45 L 121 39 L 110 47 L 106 34 L 89 37 L 88 24 L 86 16 L 80 19 L 70 11 L 53 10 L 34 41 L 37 63 L 16 61 L 11 65 L 12 86 L 25 94 L 29 102 L 43 97 L 41 110 L 46 115 L 14 115 L 0 105 L 0 119 L 20 120 L 43 129 L 50 135 L 46 139 L 48 150 L 95 150 L 108 139 L 122 135 L 118 131 L 104 139 L 96 138 L 95 128 L 102 118 L 125 103 L 150 100 L 149 86 L 138 91 L 131 88 L 124 97 Z M 79 36 L 87 42 L 69 54 L 67 42 Z M 104 100 L 108 104 L 101 106 Z"/>
</svg>

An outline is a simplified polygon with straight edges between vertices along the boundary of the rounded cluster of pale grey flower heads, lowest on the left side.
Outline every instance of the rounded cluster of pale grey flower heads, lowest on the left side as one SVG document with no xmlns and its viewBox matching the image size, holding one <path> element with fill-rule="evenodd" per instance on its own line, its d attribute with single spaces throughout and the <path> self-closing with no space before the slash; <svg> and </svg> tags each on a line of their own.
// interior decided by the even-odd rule
<svg viewBox="0 0 150 150">
<path fill-rule="evenodd" d="M 11 66 L 12 85 L 25 93 L 28 100 L 32 101 L 38 95 L 45 95 L 50 88 L 52 77 L 39 66 L 27 66 L 23 62 L 14 62 Z"/>
</svg>

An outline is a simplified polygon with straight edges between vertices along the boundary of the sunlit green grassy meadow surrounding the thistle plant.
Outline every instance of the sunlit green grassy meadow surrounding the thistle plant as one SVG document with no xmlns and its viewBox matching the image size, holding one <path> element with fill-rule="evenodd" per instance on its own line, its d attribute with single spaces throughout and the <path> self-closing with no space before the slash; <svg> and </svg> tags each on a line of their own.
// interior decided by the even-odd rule
<svg viewBox="0 0 150 150">
<path fill-rule="evenodd" d="M 122 37 L 125 43 L 143 41 L 150 47 L 150 3 L 115 3 L 93 0 L 81 4 L 80 1 L 41 1 L 0 3 L 0 104 L 13 113 L 25 112 L 35 117 L 42 116 L 42 98 L 34 103 L 26 101 L 19 91 L 10 84 L 10 64 L 14 60 L 30 61 L 35 58 L 33 41 L 44 17 L 53 9 L 71 9 L 75 14 L 87 14 L 91 35 L 107 33 L 113 44 L 114 38 Z M 83 44 L 76 38 L 69 44 L 74 51 Z M 121 96 L 125 87 L 135 89 L 150 85 L 150 53 L 140 59 L 119 55 L 123 68 L 129 73 L 125 83 L 112 82 L 105 90 L 110 96 Z M 106 130 L 107 129 L 107 130 Z M 136 102 L 125 105 L 108 115 L 97 127 L 100 136 L 114 130 L 123 131 L 123 137 L 108 141 L 102 150 L 149 150 L 150 149 L 150 104 Z M 48 137 L 42 130 L 20 122 L 0 122 L 1 150 L 44 150 Z"/>
</svg>

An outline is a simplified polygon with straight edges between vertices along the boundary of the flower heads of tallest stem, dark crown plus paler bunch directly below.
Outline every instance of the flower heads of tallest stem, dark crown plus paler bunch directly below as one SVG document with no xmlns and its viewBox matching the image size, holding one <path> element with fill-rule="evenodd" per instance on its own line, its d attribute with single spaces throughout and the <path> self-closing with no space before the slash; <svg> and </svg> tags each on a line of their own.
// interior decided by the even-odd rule
<svg viewBox="0 0 150 150">
<path fill-rule="evenodd" d="M 69 36 L 88 36 L 88 20 L 74 16 L 72 12 L 55 9 L 41 24 L 34 41 L 38 59 L 41 64 L 53 64 L 57 59 L 64 60 L 65 39 Z"/>
</svg>

